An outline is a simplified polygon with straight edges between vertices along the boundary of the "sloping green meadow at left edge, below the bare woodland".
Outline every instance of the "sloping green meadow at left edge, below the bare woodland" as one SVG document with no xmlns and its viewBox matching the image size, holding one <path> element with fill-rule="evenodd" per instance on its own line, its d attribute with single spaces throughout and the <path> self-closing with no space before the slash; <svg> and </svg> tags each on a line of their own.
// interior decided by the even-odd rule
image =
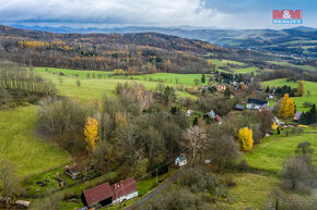
<svg viewBox="0 0 317 210">
<path fill-rule="evenodd" d="M 0 159 L 11 160 L 21 176 L 28 176 L 67 163 L 68 152 L 35 135 L 34 106 L 0 111 Z"/>
</svg>

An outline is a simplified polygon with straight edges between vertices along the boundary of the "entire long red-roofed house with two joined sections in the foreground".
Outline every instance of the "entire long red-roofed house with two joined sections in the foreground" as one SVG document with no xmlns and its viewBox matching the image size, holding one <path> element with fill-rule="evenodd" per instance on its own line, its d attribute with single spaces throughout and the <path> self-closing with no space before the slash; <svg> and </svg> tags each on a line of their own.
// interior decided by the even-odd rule
<svg viewBox="0 0 317 210">
<path fill-rule="evenodd" d="M 109 183 L 104 183 L 84 190 L 81 199 L 87 208 L 99 208 L 132 199 L 138 195 L 137 182 L 133 177 L 129 177 L 111 186 Z"/>
</svg>

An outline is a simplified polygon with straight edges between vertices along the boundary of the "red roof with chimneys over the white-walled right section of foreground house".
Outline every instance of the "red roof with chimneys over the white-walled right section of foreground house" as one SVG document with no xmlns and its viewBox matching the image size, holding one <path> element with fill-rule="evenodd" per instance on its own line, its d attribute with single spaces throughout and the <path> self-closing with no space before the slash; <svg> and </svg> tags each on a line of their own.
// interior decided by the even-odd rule
<svg viewBox="0 0 317 210">
<path fill-rule="evenodd" d="M 138 186 L 133 177 L 120 181 L 119 183 L 113 184 L 110 187 L 114 194 L 113 200 L 138 190 Z"/>
</svg>

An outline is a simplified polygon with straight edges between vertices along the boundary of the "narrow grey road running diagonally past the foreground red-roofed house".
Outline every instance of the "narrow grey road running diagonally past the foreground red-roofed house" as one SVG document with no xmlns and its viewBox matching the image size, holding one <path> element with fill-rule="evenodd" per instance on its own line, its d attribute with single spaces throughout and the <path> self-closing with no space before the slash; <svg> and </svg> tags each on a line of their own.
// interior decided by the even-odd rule
<svg viewBox="0 0 317 210">
<path fill-rule="evenodd" d="M 187 170 L 188 166 L 180 169 L 176 174 L 174 174 L 172 177 L 169 177 L 167 181 L 165 181 L 162 185 L 160 185 L 156 189 L 151 192 L 149 195 L 146 195 L 144 198 L 139 200 L 138 202 L 133 203 L 130 207 L 127 207 L 125 210 L 136 210 L 138 207 L 144 205 L 148 200 L 156 196 L 158 193 L 161 193 L 163 189 L 165 189 L 169 184 L 172 184 L 175 180 L 179 177 L 179 175 Z"/>
</svg>

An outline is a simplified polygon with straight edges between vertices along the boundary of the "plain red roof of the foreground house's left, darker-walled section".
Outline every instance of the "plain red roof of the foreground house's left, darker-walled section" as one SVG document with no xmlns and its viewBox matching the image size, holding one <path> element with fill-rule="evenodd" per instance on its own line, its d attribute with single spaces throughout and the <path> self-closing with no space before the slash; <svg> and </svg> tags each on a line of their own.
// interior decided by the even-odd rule
<svg viewBox="0 0 317 210">
<path fill-rule="evenodd" d="M 114 196 L 109 183 L 83 192 L 87 206 L 101 202 Z"/>
</svg>

